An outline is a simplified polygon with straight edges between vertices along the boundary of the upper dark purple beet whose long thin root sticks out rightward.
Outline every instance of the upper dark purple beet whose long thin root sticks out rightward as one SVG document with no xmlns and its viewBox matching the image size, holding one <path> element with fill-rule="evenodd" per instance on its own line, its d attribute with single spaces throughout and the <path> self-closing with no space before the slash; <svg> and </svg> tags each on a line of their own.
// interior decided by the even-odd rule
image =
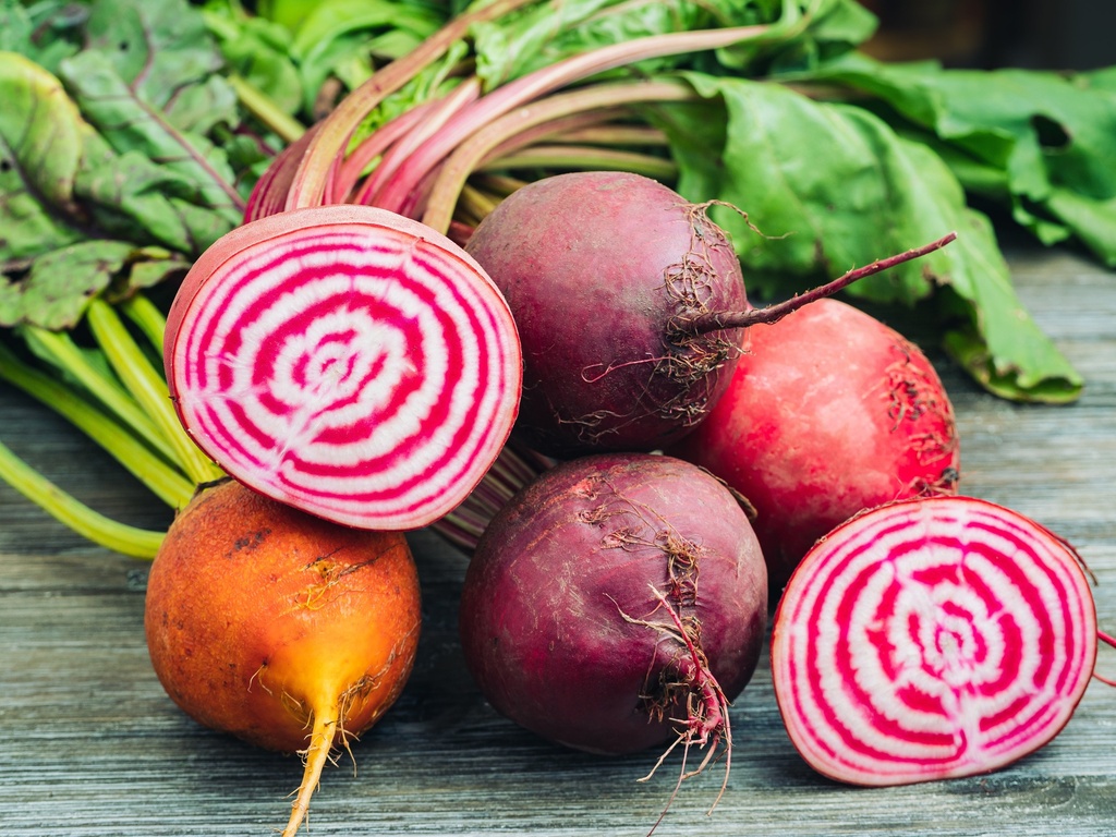
<svg viewBox="0 0 1116 837">
<path fill-rule="evenodd" d="M 741 330 L 675 319 L 748 308 L 740 262 L 701 206 L 627 172 L 536 181 L 466 250 L 523 344 L 518 437 L 545 453 L 651 451 L 684 435 L 732 377 Z"/>
</svg>

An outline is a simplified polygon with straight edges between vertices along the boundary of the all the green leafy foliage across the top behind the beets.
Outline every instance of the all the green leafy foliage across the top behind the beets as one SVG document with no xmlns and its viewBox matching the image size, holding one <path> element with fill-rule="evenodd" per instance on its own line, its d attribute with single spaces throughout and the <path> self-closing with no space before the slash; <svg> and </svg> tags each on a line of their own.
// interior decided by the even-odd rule
<svg viewBox="0 0 1116 837">
<path fill-rule="evenodd" d="M 90 294 L 164 276 L 146 253 L 189 260 L 239 222 L 261 166 L 301 124 L 464 6 L 0 0 L 3 321 L 31 316 L 36 300 L 68 321 Z M 1116 70 L 883 64 L 858 51 L 876 20 L 855 0 L 538 0 L 475 27 L 371 114 L 355 142 L 463 69 L 491 90 L 602 46 L 750 25 L 769 30 L 613 75 L 683 73 L 700 92 L 641 118 L 664 129 L 680 191 L 731 203 L 763 231 L 716 210 L 753 294 L 793 292 L 956 230 L 944 251 L 853 292 L 935 311 L 944 345 L 992 392 L 1075 397 L 1079 376 L 1019 306 L 973 206 L 1000 203 L 1040 241 L 1077 240 L 1116 266 Z M 78 246 L 89 241 L 128 251 L 86 258 Z M 71 306 L 52 285 L 29 287 L 46 281 L 35 262 L 48 253 L 48 267 L 74 259 L 67 272 L 81 272 Z"/>
</svg>

